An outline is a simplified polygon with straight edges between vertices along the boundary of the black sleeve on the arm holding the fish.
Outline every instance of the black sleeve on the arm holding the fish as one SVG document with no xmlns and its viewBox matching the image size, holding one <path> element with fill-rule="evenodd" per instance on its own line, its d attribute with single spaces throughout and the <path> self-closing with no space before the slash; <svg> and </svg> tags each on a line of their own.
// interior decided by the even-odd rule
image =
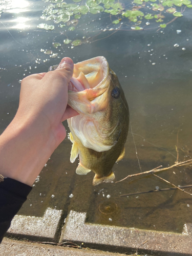
<svg viewBox="0 0 192 256">
<path fill-rule="evenodd" d="M 11 178 L 0 182 L 0 243 L 32 187 Z"/>
</svg>

